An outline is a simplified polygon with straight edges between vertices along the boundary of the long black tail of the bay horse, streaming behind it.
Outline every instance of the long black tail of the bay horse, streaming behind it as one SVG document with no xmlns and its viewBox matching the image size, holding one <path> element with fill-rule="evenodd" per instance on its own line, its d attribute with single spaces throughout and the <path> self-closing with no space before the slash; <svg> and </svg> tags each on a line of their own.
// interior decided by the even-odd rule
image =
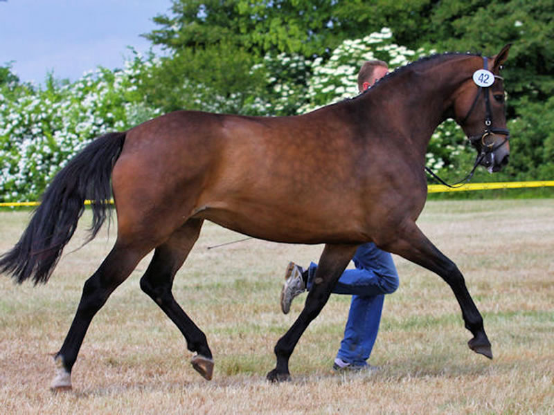
<svg viewBox="0 0 554 415">
<path fill-rule="evenodd" d="M 93 221 L 89 241 L 109 217 L 111 170 L 118 159 L 125 133 L 96 138 L 60 170 L 42 195 L 27 229 L 12 250 L 0 257 L 0 273 L 10 273 L 18 283 L 33 277 L 46 283 L 62 250 L 73 236 L 84 201 L 92 201 Z"/>
</svg>

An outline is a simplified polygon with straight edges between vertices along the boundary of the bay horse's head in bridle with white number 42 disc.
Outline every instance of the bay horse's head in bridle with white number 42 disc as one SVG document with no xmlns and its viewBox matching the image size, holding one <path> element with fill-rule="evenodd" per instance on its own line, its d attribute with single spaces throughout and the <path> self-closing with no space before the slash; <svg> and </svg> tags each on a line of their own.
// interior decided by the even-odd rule
<svg viewBox="0 0 554 415">
<path fill-rule="evenodd" d="M 479 163 L 489 172 L 498 172 L 510 156 L 503 78 L 499 75 L 509 49 L 508 44 L 490 59 L 475 57 L 481 66 L 458 90 L 454 102 L 456 120 L 476 148 Z"/>
</svg>

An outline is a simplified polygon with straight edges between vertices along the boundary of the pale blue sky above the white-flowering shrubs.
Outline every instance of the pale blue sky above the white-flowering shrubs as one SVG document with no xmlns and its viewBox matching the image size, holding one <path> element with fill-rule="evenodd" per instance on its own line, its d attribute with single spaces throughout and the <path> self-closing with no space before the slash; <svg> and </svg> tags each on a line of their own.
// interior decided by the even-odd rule
<svg viewBox="0 0 554 415">
<path fill-rule="evenodd" d="M 121 68 L 125 57 L 149 50 L 140 35 L 167 14 L 170 0 L 0 0 L 0 66 L 12 62 L 23 82 L 46 74 L 77 80 L 86 71 Z M 159 49 L 154 49 L 159 52 Z"/>
</svg>

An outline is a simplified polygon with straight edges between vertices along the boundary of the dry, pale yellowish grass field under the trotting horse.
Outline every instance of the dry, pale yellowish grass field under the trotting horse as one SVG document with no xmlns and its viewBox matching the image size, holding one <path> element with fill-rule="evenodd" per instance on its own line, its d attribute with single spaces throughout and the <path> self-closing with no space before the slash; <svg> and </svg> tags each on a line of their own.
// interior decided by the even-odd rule
<svg viewBox="0 0 554 415">
<path fill-rule="evenodd" d="M 96 315 L 73 391 L 53 394 L 51 353 L 66 335 L 84 280 L 115 239 L 107 228 L 84 248 L 80 223 L 50 282 L 0 278 L 1 414 L 554 414 L 554 199 L 429 202 L 418 222 L 465 275 L 492 342 L 490 361 L 467 348 L 452 291 L 399 257 L 400 288 L 386 297 L 370 358 L 375 374 L 332 374 L 350 297 L 333 295 L 290 360 L 292 382 L 265 380 L 273 347 L 301 311 L 278 298 L 287 261 L 322 246 L 243 241 L 206 223 L 174 286 L 208 337 L 211 382 L 190 366 L 175 326 L 139 288 L 148 257 Z M 28 212 L 0 212 L 0 252 Z"/>
</svg>

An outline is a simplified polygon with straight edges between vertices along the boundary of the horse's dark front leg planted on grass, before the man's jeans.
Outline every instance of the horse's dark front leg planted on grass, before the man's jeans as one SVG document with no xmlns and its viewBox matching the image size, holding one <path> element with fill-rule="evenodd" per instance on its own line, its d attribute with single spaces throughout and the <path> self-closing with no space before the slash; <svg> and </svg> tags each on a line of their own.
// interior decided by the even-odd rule
<svg viewBox="0 0 554 415">
<path fill-rule="evenodd" d="M 271 380 L 271 382 L 290 380 L 289 358 L 292 351 L 294 351 L 296 343 L 298 343 L 307 326 L 325 306 L 332 288 L 337 284 L 343 270 L 348 266 L 348 262 L 354 256 L 356 248 L 355 245 L 325 245 L 314 275 L 314 284 L 307 295 L 304 309 L 298 315 L 296 322 L 275 345 L 277 364 L 275 369 L 267 374 L 267 380 Z"/>
</svg>

